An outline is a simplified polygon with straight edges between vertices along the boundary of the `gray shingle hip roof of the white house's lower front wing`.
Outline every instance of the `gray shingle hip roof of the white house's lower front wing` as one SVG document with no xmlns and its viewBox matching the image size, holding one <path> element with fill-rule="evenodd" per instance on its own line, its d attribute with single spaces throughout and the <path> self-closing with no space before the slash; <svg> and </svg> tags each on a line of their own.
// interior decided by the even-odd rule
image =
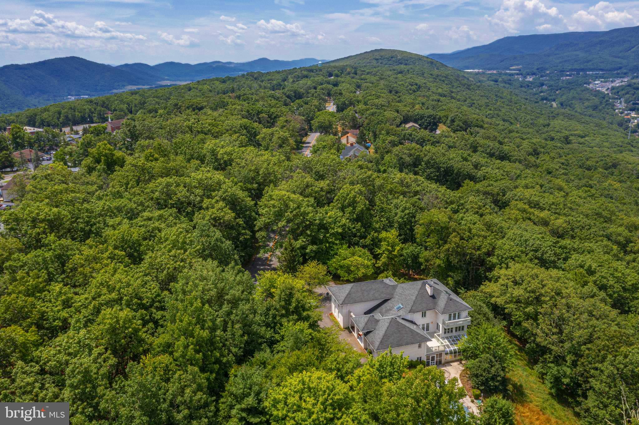
<svg viewBox="0 0 639 425">
<path fill-rule="evenodd" d="M 366 333 L 366 339 L 375 351 L 431 340 L 419 327 L 396 317 L 380 319 L 375 329 Z"/>
</svg>

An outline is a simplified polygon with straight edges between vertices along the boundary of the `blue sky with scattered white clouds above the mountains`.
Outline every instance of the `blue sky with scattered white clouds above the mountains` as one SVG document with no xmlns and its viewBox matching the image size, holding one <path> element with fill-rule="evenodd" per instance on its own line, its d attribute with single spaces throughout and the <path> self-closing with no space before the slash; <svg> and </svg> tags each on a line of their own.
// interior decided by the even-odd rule
<svg viewBox="0 0 639 425">
<path fill-rule="evenodd" d="M 61 56 L 109 64 L 428 54 L 509 35 L 639 25 L 639 1 L 2 0 L 0 65 Z"/>
</svg>

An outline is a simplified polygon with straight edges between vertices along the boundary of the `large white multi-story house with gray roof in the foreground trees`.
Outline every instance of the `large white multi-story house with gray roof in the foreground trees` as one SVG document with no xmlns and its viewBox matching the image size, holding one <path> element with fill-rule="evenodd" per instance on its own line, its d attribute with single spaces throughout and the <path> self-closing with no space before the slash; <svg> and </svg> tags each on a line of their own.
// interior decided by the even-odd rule
<svg viewBox="0 0 639 425">
<path fill-rule="evenodd" d="M 459 357 L 470 324 L 468 304 L 436 279 L 392 278 L 328 287 L 332 311 L 374 357 L 392 348 L 411 360 L 442 364 Z"/>
</svg>

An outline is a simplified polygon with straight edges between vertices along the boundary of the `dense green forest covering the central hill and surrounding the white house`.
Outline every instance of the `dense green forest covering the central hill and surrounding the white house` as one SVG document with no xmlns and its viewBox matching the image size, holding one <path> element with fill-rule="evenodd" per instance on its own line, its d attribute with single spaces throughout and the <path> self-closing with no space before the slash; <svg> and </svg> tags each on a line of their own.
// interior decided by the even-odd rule
<svg viewBox="0 0 639 425">
<path fill-rule="evenodd" d="M 442 281 L 477 334 L 504 324 L 583 424 L 636 409 L 639 149 L 619 126 L 395 50 L 0 125 L 107 110 L 121 131 L 63 143 L 0 212 L 3 401 L 69 401 L 73 424 L 474 422 L 437 369 L 362 366 L 318 327 L 328 266 Z M 371 154 L 340 160 L 346 128 Z M 325 135 L 304 157 L 309 130 Z M 242 265 L 270 245 L 281 267 L 254 284 Z"/>
</svg>

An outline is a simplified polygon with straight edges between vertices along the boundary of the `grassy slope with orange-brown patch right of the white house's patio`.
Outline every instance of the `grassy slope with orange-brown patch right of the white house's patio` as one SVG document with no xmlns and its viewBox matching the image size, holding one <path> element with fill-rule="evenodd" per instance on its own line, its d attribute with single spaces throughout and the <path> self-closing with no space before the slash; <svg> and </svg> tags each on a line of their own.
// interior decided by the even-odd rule
<svg viewBox="0 0 639 425">
<path fill-rule="evenodd" d="M 517 425 L 571 425 L 579 421 L 573 409 L 562 405 L 548 391 L 546 385 L 535 373 L 532 364 L 521 346 L 516 347 L 516 363 L 508 374 L 509 382 L 515 389 L 515 415 Z"/>
</svg>

